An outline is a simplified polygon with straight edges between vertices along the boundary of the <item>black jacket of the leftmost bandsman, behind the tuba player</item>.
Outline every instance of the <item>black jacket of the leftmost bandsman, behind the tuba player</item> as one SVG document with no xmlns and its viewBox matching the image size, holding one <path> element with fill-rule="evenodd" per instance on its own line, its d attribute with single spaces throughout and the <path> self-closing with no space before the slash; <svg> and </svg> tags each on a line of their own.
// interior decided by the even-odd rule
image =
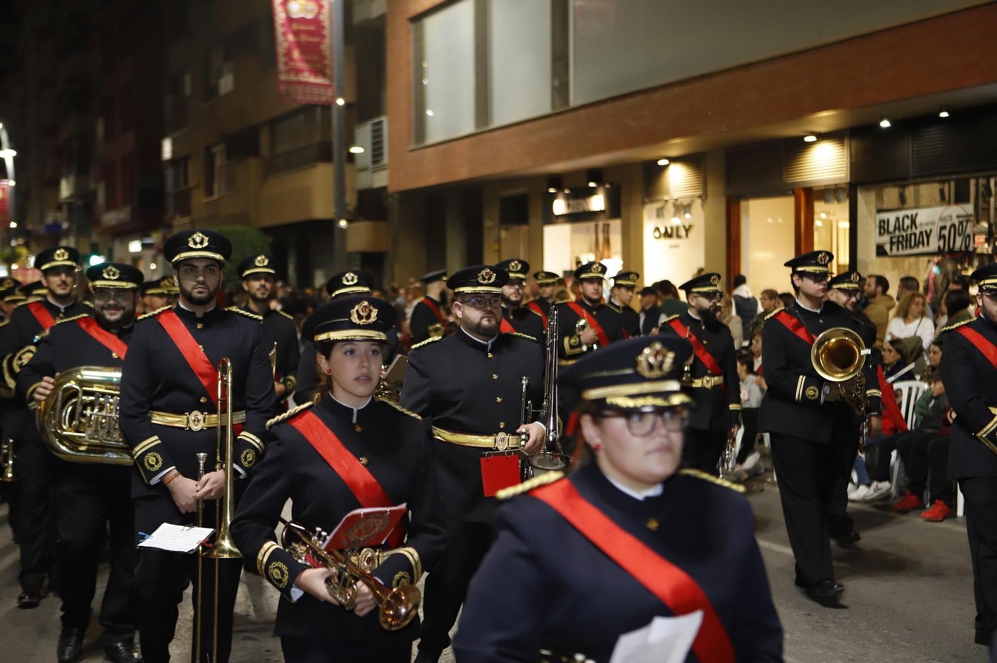
<svg viewBox="0 0 997 663">
<path fill-rule="evenodd" d="M 65 308 L 57 307 L 47 298 L 42 299 L 40 303 L 57 323 L 66 318 L 91 313 L 90 307 L 78 302 Z M 0 354 L 3 354 L 4 382 L 7 388 L 13 391 L 17 388 L 18 373 L 35 352 L 36 338 L 45 330 L 28 309 L 27 302 L 14 309 L 10 313 L 9 320 L 10 322 L 4 327 Z M 15 401 L 4 421 L 4 434 L 18 440 L 41 443 L 34 415 L 28 411 L 27 403 L 22 398 L 15 398 Z"/>
</svg>

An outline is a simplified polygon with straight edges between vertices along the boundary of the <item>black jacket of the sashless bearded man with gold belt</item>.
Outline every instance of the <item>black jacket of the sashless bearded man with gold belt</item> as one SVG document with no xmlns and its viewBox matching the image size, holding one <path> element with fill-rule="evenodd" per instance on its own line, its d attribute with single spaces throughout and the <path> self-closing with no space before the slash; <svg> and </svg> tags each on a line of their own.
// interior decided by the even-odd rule
<svg viewBox="0 0 997 663">
<path fill-rule="evenodd" d="M 534 407 L 543 400 L 543 348 L 499 333 L 487 343 L 458 330 L 413 347 L 402 387 L 402 406 L 454 433 L 495 435 L 519 427 L 521 377 Z M 530 417 L 534 421 L 535 417 Z M 447 518 L 491 523 L 495 498 L 486 498 L 481 459 L 488 449 L 436 440 L 434 457 Z"/>
</svg>

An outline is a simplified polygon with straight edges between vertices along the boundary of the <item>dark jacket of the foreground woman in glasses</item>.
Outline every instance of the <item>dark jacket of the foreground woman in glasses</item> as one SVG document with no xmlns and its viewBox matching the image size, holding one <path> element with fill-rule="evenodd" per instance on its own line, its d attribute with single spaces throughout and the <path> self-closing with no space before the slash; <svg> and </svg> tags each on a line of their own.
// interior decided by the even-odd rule
<svg viewBox="0 0 997 663">
<path fill-rule="evenodd" d="M 678 474 L 665 481 L 660 497 L 641 501 L 613 486 L 594 463 L 561 481 L 702 587 L 737 660 L 783 660 L 783 629 L 745 498 Z M 650 519 L 657 530 L 647 528 Z M 468 590 L 454 650 L 461 663 L 532 663 L 541 648 L 605 663 L 620 635 L 658 615 L 673 613 L 560 514 L 527 495 L 498 510 L 496 542 Z"/>
</svg>

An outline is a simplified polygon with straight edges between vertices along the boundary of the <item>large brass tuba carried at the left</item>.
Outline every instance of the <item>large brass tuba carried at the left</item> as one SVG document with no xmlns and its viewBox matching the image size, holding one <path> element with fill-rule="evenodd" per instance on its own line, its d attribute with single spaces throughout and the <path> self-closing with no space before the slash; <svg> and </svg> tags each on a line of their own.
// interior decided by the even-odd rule
<svg viewBox="0 0 997 663">
<path fill-rule="evenodd" d="M 52 453 L 76 463 L 131 465 L 132 453 L 118 427 L 121 368 L 79 366 L 55 380 L 35 414 Z"/>
</svg>

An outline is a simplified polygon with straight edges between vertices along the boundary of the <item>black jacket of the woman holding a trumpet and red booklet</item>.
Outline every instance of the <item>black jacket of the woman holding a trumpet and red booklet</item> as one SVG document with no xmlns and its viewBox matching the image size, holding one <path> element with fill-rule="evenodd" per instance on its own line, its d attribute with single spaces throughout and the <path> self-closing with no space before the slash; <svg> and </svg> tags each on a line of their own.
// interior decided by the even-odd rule
<svg viewBox="0 0 997 663">
<path fill-rule="evenodd" d="M 306 403 L 277 417 L 279 421 L 270 428 L 272 441 L 253 472 L 231 525 L 242 556 L 286 599 L 277 608 L 274 634 L 385 644 L 411 641 L 419 637 L 418 618 L 390 633 L 378 624 L 376 609 L 357 617 L 300 590 L 294 592 L 300 593 L 296 600 L 292 596 L 295 579 L 308 566 L 281 548 L 274 536 L 273 529 L 287 500 L 291 500 L 292 520 L 330 534 L 343 517 L 361 508 L 336 471 L 291 425 L 290 421 L 304 410 L 313 412 L 350 453 L 367 459 L 366 468 L 394 504 L 408 505 L 411 520 L 403 519 L 407 534 L 404 547 L 386 556 L 372 575 L 388 587 L 415 584 L 443 550 L 445 539 L 427 422 L 373 399 L 354 410 L 329 394 L 314 405 Z M 387 551 L 388 546 L 379 550 Z"/>
</svg>

